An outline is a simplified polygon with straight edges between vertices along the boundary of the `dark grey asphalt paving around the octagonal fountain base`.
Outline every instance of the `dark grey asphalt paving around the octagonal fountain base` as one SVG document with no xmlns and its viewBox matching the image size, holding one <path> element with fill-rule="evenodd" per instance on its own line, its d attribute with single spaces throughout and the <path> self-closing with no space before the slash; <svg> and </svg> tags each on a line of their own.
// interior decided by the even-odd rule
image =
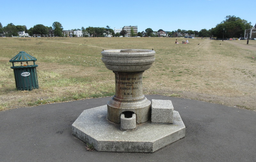
<svg viewBox="0 0 256 162">
<path fill-rule="evenodd" d="M 71 125 L 84 109 L 106 105 L 110 97 L 45 104 L 0 112 L 0 161 L 256 161 L 256 112 L 197 100 L 171 100 L 186 136 L 153 153 L 87 151 Z"/>
</svg>

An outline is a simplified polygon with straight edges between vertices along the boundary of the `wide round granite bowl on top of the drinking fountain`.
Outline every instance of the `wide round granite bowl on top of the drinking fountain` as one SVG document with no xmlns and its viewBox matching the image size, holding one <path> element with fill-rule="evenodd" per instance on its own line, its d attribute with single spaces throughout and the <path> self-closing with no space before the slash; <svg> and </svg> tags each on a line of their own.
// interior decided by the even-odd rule
<svg viewBox="0 0 256 162">
<path fill-rule="evenodd" d="M 155 61 L 154 50 L 115 49 L 101 52 L 105 66 L 116 72 L 138 72 L 149 69 Z"/>
</svg>

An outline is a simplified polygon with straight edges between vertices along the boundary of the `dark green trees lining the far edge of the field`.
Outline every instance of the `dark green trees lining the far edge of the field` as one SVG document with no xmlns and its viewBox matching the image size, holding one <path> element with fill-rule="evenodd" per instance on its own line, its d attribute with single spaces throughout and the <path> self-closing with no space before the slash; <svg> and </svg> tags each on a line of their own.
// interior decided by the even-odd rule
<svg viewBox="0 0 256 162">
<path fill-rule="evenodd" d="M 195 37 L 217 37 L 217 38 L 222 38 L 223 34 L 225 32 L 225 37 L 226 38 L 239 38 L 242 35 L 244 35 L 244 30 L 249 29 L 251 26 L 249 23 L 241 19 L 239 17 L 235 16 L 226 16 L 225 20 L 223 20 L 220 24 L 217 24 L 214 28 L 206 30 L 202 29 L 199 32 L 198 31 L 192 31 L 192 30 L 175 30 L 172 32 L 166 32 L 166 34 L 169 37 L 174 37 L 177 33 L 181 33 L 183 36 L 185 33 L 188 33 L 189 35 L 195 34 Z M 34 27 L 27 29 L 26 25 L 13 25 L 12 23 L 2 26 L 0 23 L 0 33 L 5 33 L 5 36 L 11 37 L 11 36 L 18 36 L 19 31 L 25 31 L 28 33 L 30 36 L 33 34 L 39 34 L 39 35 L 47 35 L 49 33 L 49 30 L 54 30 L 54 35 L 62 37 L 62 31 L 63 27 L 59 22 L 54 22 L 52 26 L 44 26 L 42 24 L 35 25 Z M 72 29 L 72 30 L 80 30 L 80 29 Z M 90 34 L 91 37 L 103 37 L 103 33 L 112 34 L 113 36 L 119 37 L 120 35 L 125 36 L 127 34 L 127 31 L 122 30 L 120 33 L 114 33 L 114 30 L 110 28 L 110 26 L 104 27 L 87 27 L 81 28 L 83 35 L 88 36 Z M 160 29 L 162 30 L 162 29 Z M 159 30 L 159 31 L 160 31 Z M 153 34 L 153 30 L 151 28 L 147 28 L 145 30 L 148 36 L 151 37 L 157 37 L 157 35 Z M 136 35 L 133 31 L 133 28 L 131 29 L 131 36 L 140 36 L 142 37 L 142 33 L 138 32 Z"/>
</svg>

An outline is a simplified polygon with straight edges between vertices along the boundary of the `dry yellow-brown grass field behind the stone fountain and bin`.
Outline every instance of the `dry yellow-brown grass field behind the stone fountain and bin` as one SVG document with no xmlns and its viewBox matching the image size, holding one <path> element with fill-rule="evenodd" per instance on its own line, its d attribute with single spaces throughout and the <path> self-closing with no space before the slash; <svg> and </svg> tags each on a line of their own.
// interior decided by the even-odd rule
<svg viewBox="0 0 256 162">
<path fill-rule="evenodd" d="M 256 111 L 256 52 L 227 41 L 175 38 L 0 38 L 0 110 L 112 96 L 114 73 L 102 49 L 154 49 L 143 92 Z M 246 40 L 233 40 L 246 46 Z M 198 45 L 199 44 L 199 45 Z M 256 47 L 250 40 L 247 47 Z M 36 57 L 39 89 L 17 91 L 9 60 Z"/>
</svg>

